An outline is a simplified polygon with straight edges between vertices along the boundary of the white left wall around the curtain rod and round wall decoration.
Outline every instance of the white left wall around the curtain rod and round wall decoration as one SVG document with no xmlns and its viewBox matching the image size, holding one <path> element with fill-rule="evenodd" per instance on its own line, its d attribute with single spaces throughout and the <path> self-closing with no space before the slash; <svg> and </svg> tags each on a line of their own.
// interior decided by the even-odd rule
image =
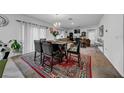
<svg viewBox="0 0 124 93">
<path fill-rule="evenodd" d="M 32 22 L 40 25 L 49 25 L 47 23 L 44 23 L 38 19 L 28 17 L 25 15 L 19 15 L 19 14 L 4 14 L 9 19 L 9 24 L 5 27 L 0 27 L 0 40 L 3 42 L 8 42 L 11 39 L 20 39 L 20 33 L 21 33 L 21 25 L 20 23 L 16 22 L 17 19 L 24 20 L 27 22 Z"/>
</svg>

